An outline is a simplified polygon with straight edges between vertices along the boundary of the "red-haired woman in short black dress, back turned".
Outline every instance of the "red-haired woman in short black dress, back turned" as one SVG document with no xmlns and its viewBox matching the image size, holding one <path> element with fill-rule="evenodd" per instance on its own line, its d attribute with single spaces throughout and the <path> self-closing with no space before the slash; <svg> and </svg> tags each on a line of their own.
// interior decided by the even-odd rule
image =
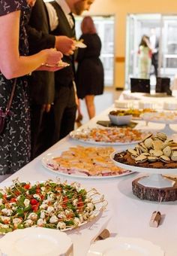
<svg viewBox="0 0 177 256">
<path fill-rule="evenodd" d="M 92 17 L 84 17 L 81 23 L 82 35 L 80 40 L 86 48 L 80 48 L 77 54 L 77 96 L 86 100 L 89 118 L 95 117 L 95 95 L 104 92 L 104 67 L 99 58 L 101 54 L 101 39 L 95 28 Z M 78 106 L 77 121 L 82 119 L 80 104 Z"/>
</svg>

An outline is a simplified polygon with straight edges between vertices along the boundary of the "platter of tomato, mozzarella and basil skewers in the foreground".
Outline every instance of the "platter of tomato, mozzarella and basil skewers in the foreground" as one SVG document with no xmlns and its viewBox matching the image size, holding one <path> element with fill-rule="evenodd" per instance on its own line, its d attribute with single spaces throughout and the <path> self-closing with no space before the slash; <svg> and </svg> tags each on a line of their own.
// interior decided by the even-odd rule
<svg viewBox="0 0 177 256">
<path fill-rule="evenodd" d="M 26 227 L 71 230 L 92 221 L 107 206 L 95 188 L 58 181 L 1 184 L 0 234 Z"/>
</svg>

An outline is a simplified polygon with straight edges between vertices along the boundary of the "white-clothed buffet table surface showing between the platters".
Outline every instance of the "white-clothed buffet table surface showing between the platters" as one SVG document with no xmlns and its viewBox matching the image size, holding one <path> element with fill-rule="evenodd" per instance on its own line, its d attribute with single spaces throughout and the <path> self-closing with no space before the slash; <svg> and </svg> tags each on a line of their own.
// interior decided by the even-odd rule
<svg viewBox="0 0 177 256">
<path fill-rule="evenodd" d="M 95 126 L 98 120 L 108 120 L 107 113 L 113 109 L 113 106 L 93 118 L 84 126 Z M 145 123 L 139 122 L 137 128 L 145 126 Z M 153 127 L 153 125 L 151 126 Z M 83 128 L 83 126 L 81 127 Z M 156 127 L 157 128 L 157 127 Z M 15 178 L 20 178 L 20 181 L 45 181 L 47 179 L 55 180 L 55 173 L 49 172 L 41 164 L 41 158 L 51 151 L 57 149 L 65 149 L 71 146 L 83 145 L 89 146 L 87 143 L 75 141 L 69 136 L 65 137 L 58 143 L 49 148 L 39 157 L 28 163 L 19 172 L 11 175 L 1 183 L 6 184 Z M 93 145 L 92 145 L 93 146 Z M 115 149 L 126 149 L 127 146 L 115 147 Z M 83 225 L 76 230 L 68 231 L 68 235 L 74 242 L 74 256 L 86 255 L 92 239 L 98 235 L 105 227 L 110 230 L 110 236 L 126 236 L 141 238 L 159 245 L 166 256 L 177 255 L 177 201 L 161 203 L 158 208 L 157 202 L 147 200 L 139 200 L 132 193 L 132 181 L 142 174 L 137 172 L 117 178 L 104 178 L 101 180 L 87 178 L 73 178 L 68 175 L 66 178 L 63 175 L 57 175 L 61 181 L 68 180 L 79 181 L 84 187 L 95 187 L 98 191 L 104 194 L 108 202 L 107 209 L 95 221 Z M 162 215 L 160 226 L 149 227 L 149 221 L 152 212 L 158 210 Z"/>
</svg>

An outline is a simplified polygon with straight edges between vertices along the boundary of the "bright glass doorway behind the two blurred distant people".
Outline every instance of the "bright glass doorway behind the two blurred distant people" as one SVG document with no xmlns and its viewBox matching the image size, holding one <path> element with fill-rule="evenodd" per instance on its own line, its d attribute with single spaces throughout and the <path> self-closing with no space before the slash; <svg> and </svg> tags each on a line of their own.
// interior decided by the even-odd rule
<svg viewBox="0 0 177 256">
<path fill-rule="evenodd" d="M 142 35 L 150 35 L 151 28 L 156 28 L 159 38 L 158 76 L 175 77 L 177 66 L 177 15 L 129 14 L 127 15 L 125 88 L 130 88 L 130 78 L 138 78 L 138 47 Z M 153 66 L 150 72 L 151 89 L 156 78 Z"/>
</svg>

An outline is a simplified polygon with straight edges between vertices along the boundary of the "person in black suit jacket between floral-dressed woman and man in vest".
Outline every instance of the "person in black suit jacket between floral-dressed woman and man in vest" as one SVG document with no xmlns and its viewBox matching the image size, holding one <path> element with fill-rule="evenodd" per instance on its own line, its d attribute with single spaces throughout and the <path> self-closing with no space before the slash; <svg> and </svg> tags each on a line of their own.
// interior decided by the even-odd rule
<svg viewBox="0 0 177 256">
<path fill-rule="evenodd" d="M 29 53 L 56 48 L 62 53 L 73 54 L 74 40 L 67 36 L 50 35 L 49 17 L 43 0 L 37 0 L 31 10 L 27 33 Z M 31 158 L 37 157 L 52 146 L 53 120 L 50 111 L 55 97 L 53 72 L 32 72 L 28 76 L 31 97 Z"/>
</svg>

